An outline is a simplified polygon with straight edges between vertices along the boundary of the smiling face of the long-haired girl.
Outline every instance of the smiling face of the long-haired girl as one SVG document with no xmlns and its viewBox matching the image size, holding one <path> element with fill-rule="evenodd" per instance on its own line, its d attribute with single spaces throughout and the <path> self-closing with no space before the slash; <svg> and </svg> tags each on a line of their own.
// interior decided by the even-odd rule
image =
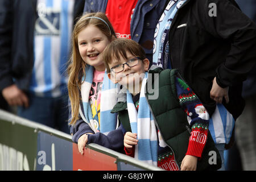
<svg viewBox="0 0 256 182">
<path fill-rule="evenodd" d="M 77 42 L 82 60 L 97 71 L 104 71 L 105 65 L 101 52 L 110 43 L 108 37 L 96 26 L 88 25 L 77 35 Z"/>
</svg>

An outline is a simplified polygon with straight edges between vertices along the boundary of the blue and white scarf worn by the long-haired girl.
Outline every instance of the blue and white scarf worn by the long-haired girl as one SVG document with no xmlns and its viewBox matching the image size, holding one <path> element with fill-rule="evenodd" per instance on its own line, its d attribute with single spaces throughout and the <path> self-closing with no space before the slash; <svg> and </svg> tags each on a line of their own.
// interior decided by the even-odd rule
<svg viewBox="0 0 256 182">
<path fill-rule="evenodd" d="M 85 81 L 81 85 L 82 106 L 84 107 L 84 111 L 82 112 L 80 107 L 79 113 L 82 119 L 88 123 L 90 128 L 94 131 L 94 133 L 96 133 L 97 130 L 92 117 L 92 108 L 89 103 L 90 88 L 92 87 L 93 81 L 93 71 L 94 68 L 92 66 L 85 68 Z M 82 80 L 84 80 L 84 77 Z M 105 135 L 108 134 L 109 131 L 115 130 L 117 126 L 117 113 L 110 113 L 114 105 L 117 103 L 118 90 L 116 89 L 118 89 L 118 85 L 113 84 L 113 82 L 109 80 L 105 71 L 101 88 L 100 103 L 100 132 L 104 133 Z M 97 117 L 94 119 L 97 119 Z"/>
</svg>

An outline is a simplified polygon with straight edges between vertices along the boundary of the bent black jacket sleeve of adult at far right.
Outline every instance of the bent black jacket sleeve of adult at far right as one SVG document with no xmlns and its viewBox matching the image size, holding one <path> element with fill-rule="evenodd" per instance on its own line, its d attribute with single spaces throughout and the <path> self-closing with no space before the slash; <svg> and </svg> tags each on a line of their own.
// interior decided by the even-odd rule
<svg viewBox="0 0 256 182">
<path fill-rule="evenodd" d="M 213 8 L 216 8 L 216 16 L 209 16 Z M 224 63 L 216 69 L 218 86 L 226 88 L 246 80 L 256 60 L 255 23 L 229 0 L 208 0 L 201 9 L 204 10 L 204 28 L 214 37 L 230 42 Z"/>
</svg>

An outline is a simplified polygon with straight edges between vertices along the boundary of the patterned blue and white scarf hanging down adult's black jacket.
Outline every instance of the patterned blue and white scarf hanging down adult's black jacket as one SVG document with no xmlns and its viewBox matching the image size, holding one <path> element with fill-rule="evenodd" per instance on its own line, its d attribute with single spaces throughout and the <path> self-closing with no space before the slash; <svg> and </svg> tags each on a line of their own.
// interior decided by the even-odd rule
<svg viewBox="0 0 256 182">
<path fill-rule="evenodd" d="M 169 31 L 177 10 L 187 0 L 171 0 L 159 19 L 154 35 L 153 64 L 167 68 L 169 57 Z"/>
</svg>

